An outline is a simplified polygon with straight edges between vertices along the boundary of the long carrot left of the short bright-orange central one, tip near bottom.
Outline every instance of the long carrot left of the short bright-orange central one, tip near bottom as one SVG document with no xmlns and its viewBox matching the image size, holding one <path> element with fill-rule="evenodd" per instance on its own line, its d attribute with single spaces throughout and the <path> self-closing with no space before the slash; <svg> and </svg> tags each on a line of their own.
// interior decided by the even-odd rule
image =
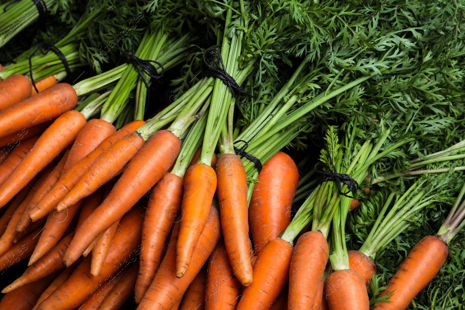
<svg viewBox="0 0 465 310">
<path fill-rule="evenodd" d="M 169 172 L 150 191 L 142 225 L 136 303 L 144 297 L 160 266 L 164 245 L 181 208 L 183 192 L 184 179 Z"/>
</svg>

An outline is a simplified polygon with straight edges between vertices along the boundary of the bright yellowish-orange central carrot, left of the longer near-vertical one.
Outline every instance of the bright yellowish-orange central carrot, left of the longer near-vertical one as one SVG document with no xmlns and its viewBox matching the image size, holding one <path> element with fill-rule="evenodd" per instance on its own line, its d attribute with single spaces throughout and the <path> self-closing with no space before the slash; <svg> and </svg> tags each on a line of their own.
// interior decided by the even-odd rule
<svg viewBox="0 0 465 310">
<path fill-rule="evenodd" d="M 184 175 L 181 227 L 176 248 L 176 277 L 183 277 L 189 268 L 192 253 L 210 212 L 216 184 L 215 171 L 208 165 L 192 165 Z"/>
</svg>

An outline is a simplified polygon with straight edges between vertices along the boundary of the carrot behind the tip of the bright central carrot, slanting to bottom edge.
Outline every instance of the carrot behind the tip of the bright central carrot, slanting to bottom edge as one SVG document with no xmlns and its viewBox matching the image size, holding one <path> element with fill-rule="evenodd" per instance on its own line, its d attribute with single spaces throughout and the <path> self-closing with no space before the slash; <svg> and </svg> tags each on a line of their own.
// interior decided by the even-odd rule
<svg viewBox="0 0 465 310">
<path fill-rule="evenodd" d="M 195 246 L 191 268 L 186 271 L 186 274 L 182 278 L 176 277 L 175 272 L 179 230 L 180 222 L 176 223 L 173 227 L 173 233 L 165 258 L 163 258 L 160 268 L 144 298 L 139 303 L 137 310 L 171 309 L 178 303 L 219 242 L 219 211 L 214 205 L 210 208 L 205 229 L 202 231 L 199 242 Z"/>
</svg>

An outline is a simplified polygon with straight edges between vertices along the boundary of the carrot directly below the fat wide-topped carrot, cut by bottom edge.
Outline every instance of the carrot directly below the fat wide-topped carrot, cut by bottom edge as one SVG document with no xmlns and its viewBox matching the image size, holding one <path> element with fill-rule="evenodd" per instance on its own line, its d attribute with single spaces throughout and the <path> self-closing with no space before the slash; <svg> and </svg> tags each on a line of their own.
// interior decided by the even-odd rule
<svg viewBox="0 0 465 310">
<path fill-rule="evenodd" d="M 253 266 L 253 282 L 242 292 L 237 309 L 269 309 L 287 284 L 291 258 L 289 242 L 276 238 L 266 243 Z"/>
</svg>

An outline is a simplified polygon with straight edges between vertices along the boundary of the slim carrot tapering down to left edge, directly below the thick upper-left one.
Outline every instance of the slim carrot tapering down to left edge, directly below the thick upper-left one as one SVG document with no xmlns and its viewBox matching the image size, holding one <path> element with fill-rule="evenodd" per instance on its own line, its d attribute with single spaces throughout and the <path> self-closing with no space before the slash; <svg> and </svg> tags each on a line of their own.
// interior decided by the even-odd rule
<svg viewBox="0 0 465 310">
<path fill-rule="evenodd" d="M 5 205 L 53 158 L 70 145 L 85 124 L 86 119 L 77 111 L 66 112 L 56 119 L 40 136 L 31 152 L 27 153 L 20 165 L 0 186 L 0 206 Z"/>
</svg>

